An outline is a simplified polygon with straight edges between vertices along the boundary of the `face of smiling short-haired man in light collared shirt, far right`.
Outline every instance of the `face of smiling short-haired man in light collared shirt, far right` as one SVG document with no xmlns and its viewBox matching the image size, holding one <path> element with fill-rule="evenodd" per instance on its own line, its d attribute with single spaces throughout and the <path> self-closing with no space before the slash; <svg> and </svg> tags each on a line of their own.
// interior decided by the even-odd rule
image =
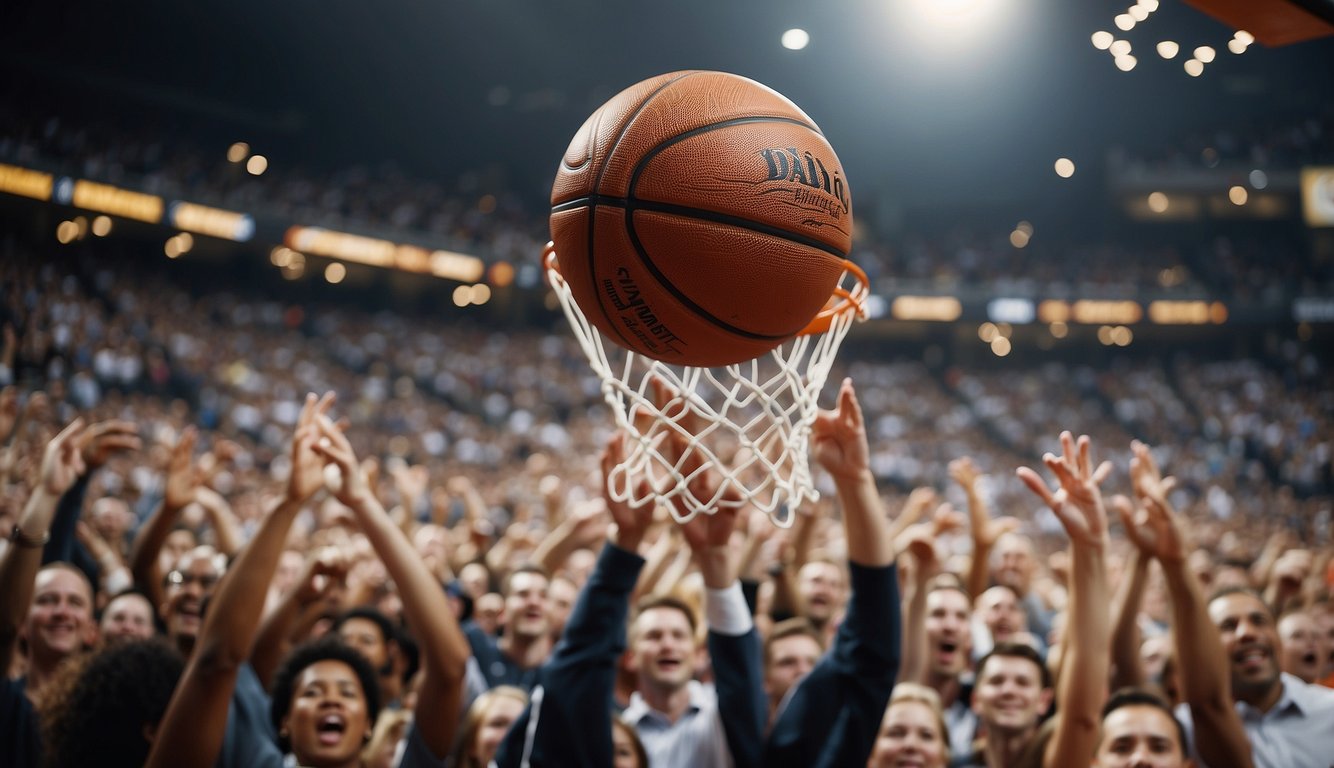
<svg viewBox="0 0 1334 768">
<path fill-rule="evenodd" d="M 1269 608 L 1254 595 L 1233 592 L 1209 604 L 1209 619 L 1231 664 L 1233 696 L 1253 705 L 1277 700 L 1279 640 Z"/>
</svg>

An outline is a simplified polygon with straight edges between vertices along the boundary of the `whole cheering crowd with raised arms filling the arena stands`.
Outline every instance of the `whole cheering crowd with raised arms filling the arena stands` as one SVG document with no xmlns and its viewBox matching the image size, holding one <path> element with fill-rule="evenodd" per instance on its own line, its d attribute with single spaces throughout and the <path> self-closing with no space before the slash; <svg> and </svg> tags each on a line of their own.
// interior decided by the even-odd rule
<svg viewBox="0 0 1334 768">
<path fill-rule="evenodd" d="M 0 143 L 61 155 L 257 188 L 59 124 Z M 412 181 L 272 179 L 293 212 L 532 231 Z M 1175 723 L 1165 765 L 1334 753 L 1334 383 L 1295 344 L 1098 367 L 850 345 L 822 499 L 791 528 L 679 524 L 607 492 L 624 444 L 563 327 L 0 247 L 5 765 L 1111 767 L 1135 707 Z M 895 273 L 996 280 L 976 244 L 920 248 Z M 1083 275 L 1189 268 L 1098 253 Z"/>
</svg>

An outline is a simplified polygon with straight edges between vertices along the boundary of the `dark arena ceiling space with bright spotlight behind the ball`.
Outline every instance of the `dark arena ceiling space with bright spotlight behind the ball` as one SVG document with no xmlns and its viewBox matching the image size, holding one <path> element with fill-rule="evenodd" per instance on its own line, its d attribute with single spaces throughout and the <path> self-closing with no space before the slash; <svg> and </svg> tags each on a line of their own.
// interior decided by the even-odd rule
<svg viewBox="0 0 1334 768">
<path fill-rule="evenodd" d="M 1330 39 L 1229 53 L 1233 31 L 1182 4 L 1129 33 L 1126 4 L 990 0 L 975 35 L 915 21 L 948 0 L 9 0 L 0 108 L 151 124 L 273 164 L 392 161 L 414 176 L 483 172 L 535 207 L 583 119 L 616 91 L 683 68 L 783 92 L 828 135 L 859 215 L 1063 201 L 1087 215 L 1113 147 L 1282 123 L 1334 101 Z M 1282 1 L 1282 0 L 1269 0 Z M 803 51 L 779 36 L 811 33 Z M 1118 71 L 1090 35 L 1134 44 Z M 1165 61 L 1158 40 L 1183 52 Z M 1182 61 L 1209 44 L 1205 76 Z M 1079 172 L 1062 181 L 1057 157 Z"/>
</svg>

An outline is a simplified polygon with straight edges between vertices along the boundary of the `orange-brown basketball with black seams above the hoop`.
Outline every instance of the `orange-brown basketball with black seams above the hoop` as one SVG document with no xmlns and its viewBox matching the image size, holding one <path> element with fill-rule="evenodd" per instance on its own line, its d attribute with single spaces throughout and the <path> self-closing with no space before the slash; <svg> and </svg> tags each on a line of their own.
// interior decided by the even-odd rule
<svg viewBox="0 0 1334 768">
<path fill-rule="evenodd" d="M 579 309 L 616 344 L 696 367 L 751 360 L 830 300 L 852 240 L 847 176 L 780 93 L 672 72 L 575 133 L 551 239 Z"/>
</svg>

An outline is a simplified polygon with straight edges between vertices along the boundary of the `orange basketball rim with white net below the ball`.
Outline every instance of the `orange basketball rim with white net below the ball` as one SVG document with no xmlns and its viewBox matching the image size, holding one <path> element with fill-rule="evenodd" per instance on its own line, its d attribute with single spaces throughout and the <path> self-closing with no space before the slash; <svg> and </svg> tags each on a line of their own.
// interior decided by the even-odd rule
<svg viewBox="0 0 1334 768">
<path fill-rule="evenodd" d="M 636 505 L 656 499 L 679 523 L 720 507 L 752 504 L 787 528 L 791 509 L 819 497 L 807 457 L 811 424 L 843 337 L 854 320 L 866 317 L 870 287 L 860 268 L 844 260 L 824 309 L 778 348 L 735 365 L 696 368 L 606 343 L 575 303 L 550 243 L 543 263 L 588 364 L 602 379 L 603 397 L 628 435 L 626 459 L 608 477 L 612 499 Z M 682 441 L 684 451 L 675 448 Z M 703 487 L 695 480 L 708 471 L 719 481 L 702 499 L 692 487 Z M 636 492 L 635 477 L 648 480 L 640 485 L 647 491 Z"/>
</svg>

